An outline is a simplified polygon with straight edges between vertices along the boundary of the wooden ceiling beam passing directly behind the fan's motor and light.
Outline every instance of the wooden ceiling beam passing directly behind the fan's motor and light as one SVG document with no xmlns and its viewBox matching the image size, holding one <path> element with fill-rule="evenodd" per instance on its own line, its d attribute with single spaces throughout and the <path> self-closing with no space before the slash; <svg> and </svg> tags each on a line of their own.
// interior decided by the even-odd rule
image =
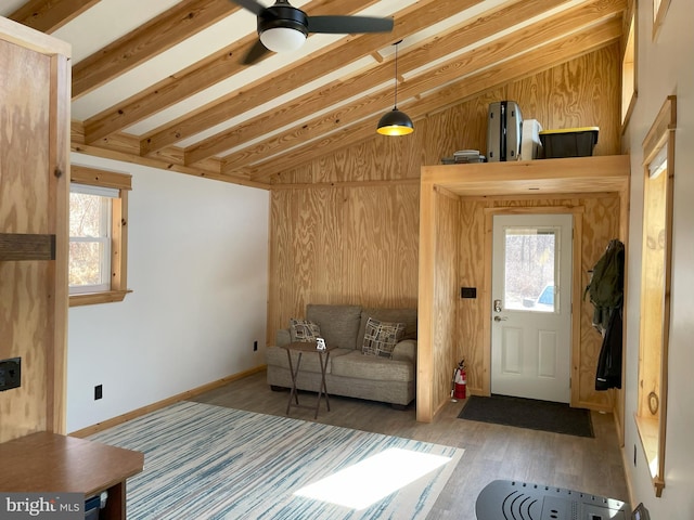
<svg viewBox="0 0 694 520">
<path fill-rule="evenodd" d="M 314 15 L 334 14 L 336 9 L 340 9 L 340 13 L 348 14 L 365 9 L 376 1 L 345 0 L 335 5 L 335 0 L 314 0 L 303 9 L 310 10 Z M 250 34 L 121 103 L 90 117 L 85 120 L 85 139 L 88 143 L 93 144 L 106 135 L 119 132 L 185 98 L 202 92 L 219 81 L 242 72 L 246 66 L 241 63 L 241 56 L 246 55 L 257 39 L 258 36 L 255 32 Z M 269 53 L 262 58 L 270 55 L 272 54 Z"/>
</svg>

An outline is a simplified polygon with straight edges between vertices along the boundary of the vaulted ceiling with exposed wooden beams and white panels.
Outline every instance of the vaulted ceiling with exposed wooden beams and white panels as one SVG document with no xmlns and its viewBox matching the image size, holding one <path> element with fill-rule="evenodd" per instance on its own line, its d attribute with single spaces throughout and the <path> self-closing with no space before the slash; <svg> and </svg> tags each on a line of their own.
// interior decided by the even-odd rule
<svg viewBox="0 0 694 520">
<path fill-rule="evenodd" d="M 260 0 L 265 5 L 272 2 Z M 255 16 L 229 0 L 3 0 L 73 44 L 74 151 L 249 185 L 619 40 L 626 0 L 294 0 L 309 16 L 391 16 L 241 60 Z M 409 139 L 386 138 L 377 139 Z"/>
</svg>

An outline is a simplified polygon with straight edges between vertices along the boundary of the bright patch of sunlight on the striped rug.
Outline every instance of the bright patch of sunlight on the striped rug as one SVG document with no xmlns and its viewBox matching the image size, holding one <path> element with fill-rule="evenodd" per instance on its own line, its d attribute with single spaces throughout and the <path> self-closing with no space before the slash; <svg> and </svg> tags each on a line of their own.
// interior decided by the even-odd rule
<svg viewBox="0 0 694 520">
<path fill-rule="evenodd" d="M 294 494 L 352 509 L 365 509 L 426 473 L 450 457 L 391 447 L 345 468 Z"/>
</svg>

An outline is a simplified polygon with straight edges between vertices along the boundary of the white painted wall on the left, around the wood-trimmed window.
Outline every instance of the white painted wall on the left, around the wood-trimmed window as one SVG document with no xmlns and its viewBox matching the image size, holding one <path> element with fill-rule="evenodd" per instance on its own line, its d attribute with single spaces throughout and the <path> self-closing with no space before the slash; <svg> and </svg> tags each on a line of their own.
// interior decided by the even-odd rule
<svg viewBox="0 0 694 520">
<path fill-rule="evenodd" d="M 73 162 L 132 174 L 133 292 L 69 309 L 67 431 L 264 364 L 269 192 L 78 154 Z"/>
</svg>

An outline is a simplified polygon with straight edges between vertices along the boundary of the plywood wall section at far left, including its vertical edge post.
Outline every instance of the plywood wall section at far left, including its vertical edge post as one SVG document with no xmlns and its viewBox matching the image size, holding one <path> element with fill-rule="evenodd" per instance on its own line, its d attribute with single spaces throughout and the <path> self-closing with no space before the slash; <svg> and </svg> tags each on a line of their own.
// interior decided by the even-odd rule
<svg viewBox="0 0 694 520">
<path fill-rule="evenodd" d="M 0 233 L 55 236 L 54 260 L 0 260 L 0 359 L 22 364 L 0 392 L 0 442 L 65 429 L 68 55 L 0 17 Z"/>
</svg>

